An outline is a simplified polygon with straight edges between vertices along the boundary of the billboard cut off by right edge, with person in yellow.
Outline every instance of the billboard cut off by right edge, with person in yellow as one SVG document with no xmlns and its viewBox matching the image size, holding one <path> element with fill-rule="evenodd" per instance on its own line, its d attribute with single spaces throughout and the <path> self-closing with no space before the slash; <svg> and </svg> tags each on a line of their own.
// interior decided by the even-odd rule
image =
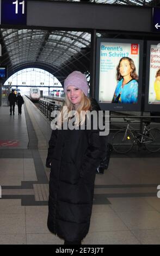
<svg viewBox="0 0 160 256">
<path fill-rule="evenodd" d="M 160 41 L 147 41 L 145 111 L 160 109 Z"/>
</svg>

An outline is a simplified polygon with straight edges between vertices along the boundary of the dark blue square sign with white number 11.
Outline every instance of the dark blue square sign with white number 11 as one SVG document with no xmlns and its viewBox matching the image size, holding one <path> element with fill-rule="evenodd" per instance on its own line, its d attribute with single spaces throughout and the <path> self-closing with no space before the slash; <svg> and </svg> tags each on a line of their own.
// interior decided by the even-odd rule
<svg viewBox="0 0 160 256">
<path fill-rule="evenodd" d="M 1 24 L 27 25 L 27 1 L 1 0 Z"/>
</svg>

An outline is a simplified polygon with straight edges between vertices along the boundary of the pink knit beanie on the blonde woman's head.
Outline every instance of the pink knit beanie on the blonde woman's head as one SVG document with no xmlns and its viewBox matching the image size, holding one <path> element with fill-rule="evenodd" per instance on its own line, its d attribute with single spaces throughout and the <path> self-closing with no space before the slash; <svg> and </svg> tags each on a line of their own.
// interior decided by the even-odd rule
<svg viewBox="0 0 160 256">
<path fill-rule="evenodd" d="M 75 86 L 82 90 L 85 96 L 88 95 L 88 83 L 87 78 L 80 71 L 73 71 L 67 78 L 64 80 L 64 92 L 66 93 L 67 87 Z"/>
</svg>

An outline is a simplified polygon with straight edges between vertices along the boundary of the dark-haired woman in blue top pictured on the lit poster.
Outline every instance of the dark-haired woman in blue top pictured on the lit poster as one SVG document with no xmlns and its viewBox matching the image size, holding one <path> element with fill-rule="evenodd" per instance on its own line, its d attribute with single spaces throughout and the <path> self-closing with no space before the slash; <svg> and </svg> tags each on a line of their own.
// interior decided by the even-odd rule
<svg viewBox="0 0 160 256">
<path fill-rule="evenodd" d="M 116 79 L 119 81 L 113 96 L 113 103 L 137 103 L 138 75 L 131 58 L 120 59 L 116 69 Z"/>
</svg>

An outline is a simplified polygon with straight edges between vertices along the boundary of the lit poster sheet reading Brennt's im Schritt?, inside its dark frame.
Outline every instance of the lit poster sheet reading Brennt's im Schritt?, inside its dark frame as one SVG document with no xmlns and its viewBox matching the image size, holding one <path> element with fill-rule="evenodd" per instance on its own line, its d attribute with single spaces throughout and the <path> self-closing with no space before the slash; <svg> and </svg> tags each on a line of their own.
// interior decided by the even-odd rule
<svg viewBox="0 0 160 256">
<path fill-rule="evenodd" d="M 99 102 L 136 104 L 140 45 L 106 40 L 100 44 Z"/>
</svg>

